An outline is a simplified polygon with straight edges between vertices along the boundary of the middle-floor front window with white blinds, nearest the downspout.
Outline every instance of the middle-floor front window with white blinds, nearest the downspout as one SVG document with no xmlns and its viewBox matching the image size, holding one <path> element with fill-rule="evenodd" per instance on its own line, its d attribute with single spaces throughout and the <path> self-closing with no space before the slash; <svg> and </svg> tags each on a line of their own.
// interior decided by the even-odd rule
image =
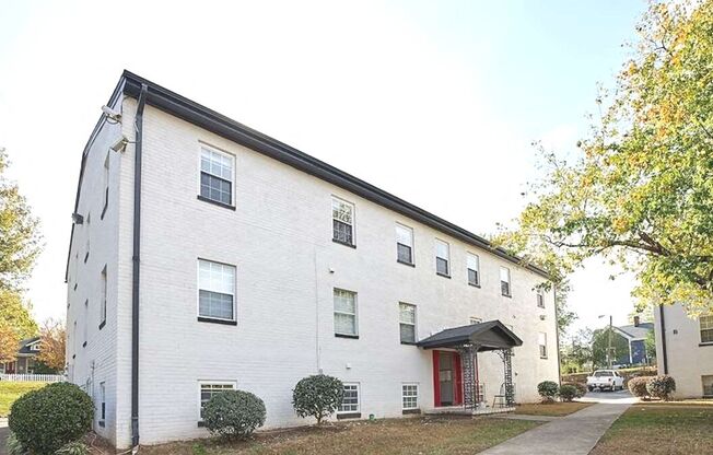
<svg viewBox="0 0 713 455">
<path fill-rule="evenodd" d="M 199 319 L 235 320 L 235 267 L 198 260 Z"/>
</svg>

